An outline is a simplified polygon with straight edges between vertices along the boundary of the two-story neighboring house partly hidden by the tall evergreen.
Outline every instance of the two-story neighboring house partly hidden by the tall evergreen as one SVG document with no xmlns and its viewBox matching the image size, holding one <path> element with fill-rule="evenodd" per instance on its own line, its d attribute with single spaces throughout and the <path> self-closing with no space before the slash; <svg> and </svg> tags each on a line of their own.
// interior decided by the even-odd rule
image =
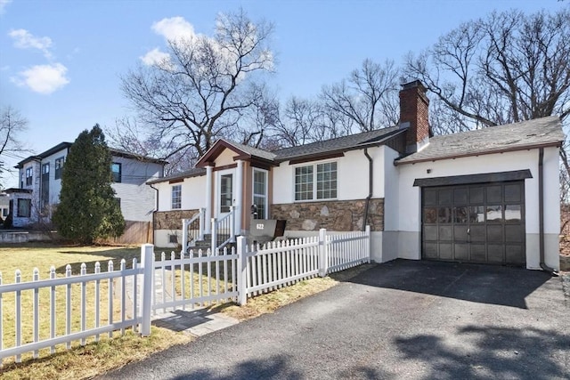
<svg viewBox="0 0 570 380">
<path fill-rule="evenodd" d="M 53 206 L 60 201 L 61 173 L 70 146 L 70 142 L 61 142 L 15 166 L 20 172 L 20 187 L 6 190 L 13 199 L 14 227 L 51 220 Z M 156 207 L 156 192 L 146 182 L 164 175 L 166 161 L 123 150 L 110 149 L 110 152 L 113 174 L 111 187 L 116 192 L 127 226 L 128 222 L 151 222 Z"/>
</svg>

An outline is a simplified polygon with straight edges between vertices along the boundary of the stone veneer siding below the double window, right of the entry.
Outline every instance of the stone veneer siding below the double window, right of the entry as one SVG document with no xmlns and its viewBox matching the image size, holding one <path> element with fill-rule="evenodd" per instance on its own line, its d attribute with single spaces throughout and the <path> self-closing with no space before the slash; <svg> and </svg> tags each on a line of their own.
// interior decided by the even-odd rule
<svg viewBox="0 0 570 380">
<path fill-rule="evenodd" d="M 365 206 L 366 199 L 280 204 L 271 206 L 271 217 L 287 220 L 285 230 L 362 230 Z M 384 198 L 371 199 L 367 224 L 384 230 Z"/>
</svg>

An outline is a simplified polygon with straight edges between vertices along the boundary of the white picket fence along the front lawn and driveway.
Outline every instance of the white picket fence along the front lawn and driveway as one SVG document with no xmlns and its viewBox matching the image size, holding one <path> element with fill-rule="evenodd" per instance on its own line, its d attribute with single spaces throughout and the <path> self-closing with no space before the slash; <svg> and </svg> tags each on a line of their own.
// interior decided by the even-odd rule
<svg viewBox="0 0 570 380">
<path fill-rule="evenodd" d="M 95 263 L 94 273 L 88 274 L 83 263 L 79 275 L 73 276 L 68 265 L 65 277 L 57 278 L 52 267 L 49 279 L 39 279 L 35 270 L 28 282 L 22 282 L 20 271 L 16 271 L 12 284 L 3 284 L 0 273 L 0 367 L 8 357 L 20 362 L 21 354 L 32 352 L 37 358 L 40 350 L 53 353 L 56 345 L 65 344 L 69 349 L 76 341 L 85 345 L 87 338 L 98 341 L 102 334 L 125 334 L 126 328 L 148 336 L 152 316 L 159 310 L 228 301 L 245 304 L 248 296 L 369 263 L 370 235 L 368 226 L 363 232 L 346 234 L 320 230 L 318 237 L 264 247 L 248 247 L 239 237 L 237 248 L 231 250 L 172 253 L 169 259 L 163 253 L 159 261 L 155 261 L 154 247 L 145 244 L 140 263 L 134 259 L 131 269 L 126 268 L 125 260 L 118 271 L 112 262 L 105 272 Z M 31 292 L 31 310 L 22 307 L 25 292 Z M 13 314 L 4 311 L 3 300 L 8 296 L 14 297 Z M 65 298 L 64 311 L 56 310 L 59 297 Z M 93 313 L 87 312 L 88 303 L 94 305 Z M 5 321 L 11 319 L 11 326 L 6 326 Z M 49 336 L 40 336 L 40 323 L 49 324 Z M 4 346 L 4 333 L 10 334 L 12 328 L 13 342 Z"/>
</svg>

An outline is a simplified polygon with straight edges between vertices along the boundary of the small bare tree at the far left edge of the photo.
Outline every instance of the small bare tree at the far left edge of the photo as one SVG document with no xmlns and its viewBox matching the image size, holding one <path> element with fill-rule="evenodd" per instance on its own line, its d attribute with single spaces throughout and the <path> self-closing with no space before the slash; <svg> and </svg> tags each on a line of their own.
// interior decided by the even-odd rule
<svg viewBox="0 0 570 380">
<path fill-rule="evenodd" d="M 4 159 L 21 158 L 22 153 L 29 151 L 20 141 L 27 128 L 28 120 L 16 109 L 10 106 L 0 109 L 0 175 L 4 174 Z"/>
</svg>

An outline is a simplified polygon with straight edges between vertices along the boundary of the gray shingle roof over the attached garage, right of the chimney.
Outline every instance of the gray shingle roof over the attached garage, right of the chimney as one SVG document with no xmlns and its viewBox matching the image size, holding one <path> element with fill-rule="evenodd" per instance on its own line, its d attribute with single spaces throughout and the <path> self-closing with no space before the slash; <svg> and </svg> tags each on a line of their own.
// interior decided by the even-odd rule
<svg viewBox="0 0 570 380">
<path fill-rule="evenodd" d="M 564 141 L 558 117 L 541 117 L 521 123 L 492 126 L 476 131 L 444 134 L 429 139 L 423 150 L 396 160 L 411 164 L 445 158 L 459 158 L 537 146 L 558 145 Z"/>
</svg>

